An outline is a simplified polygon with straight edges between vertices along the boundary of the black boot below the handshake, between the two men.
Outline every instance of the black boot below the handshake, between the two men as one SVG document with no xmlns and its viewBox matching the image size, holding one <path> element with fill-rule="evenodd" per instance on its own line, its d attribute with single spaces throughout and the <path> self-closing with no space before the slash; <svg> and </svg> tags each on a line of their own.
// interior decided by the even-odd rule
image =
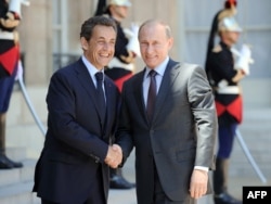
<svg viewBox="0 0 271 204">
<path fill-rule="evenodd" d="M 109 188 L 111 189 L 131 189 L 134 188 L 136 184 L 127 181 L 120 169 L 111 168 L 111 179 L 109 179 Z"/>
</svg>

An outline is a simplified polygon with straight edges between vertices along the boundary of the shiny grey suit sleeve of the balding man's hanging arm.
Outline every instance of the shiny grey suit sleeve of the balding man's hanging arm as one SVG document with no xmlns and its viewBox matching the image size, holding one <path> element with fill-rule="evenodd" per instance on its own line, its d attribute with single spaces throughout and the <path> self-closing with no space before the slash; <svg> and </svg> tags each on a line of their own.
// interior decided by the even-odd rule
<svg viewBox="0 0 271 204">
<path fill-rule="evenodd" d="M 217 114 L 211 88 L 205 71 L 196 66 L 188 84 L 189 101 L 197 127 L 195 166 L 215 168 Z"/>
</svg>

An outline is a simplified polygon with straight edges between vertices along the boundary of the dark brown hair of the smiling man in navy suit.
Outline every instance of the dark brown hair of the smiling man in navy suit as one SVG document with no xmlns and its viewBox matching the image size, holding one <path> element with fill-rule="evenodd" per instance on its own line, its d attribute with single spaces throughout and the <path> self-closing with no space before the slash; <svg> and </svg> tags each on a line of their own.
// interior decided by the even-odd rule
<svg viewBox="0 0 271 204">
<path fill-rule="evenodd" d="M 80 38 L 83 37 L 87 41 L 89 41 L 92 36 L 93 28 L 96 25 L 113 27 L 113 29 L 117 34 L 117 25 L 115 21 L 109 17 L 99 15 L 90 17 L 86 22 L 83 22 L 83 24 L 81 25 Z"/>
</svg>

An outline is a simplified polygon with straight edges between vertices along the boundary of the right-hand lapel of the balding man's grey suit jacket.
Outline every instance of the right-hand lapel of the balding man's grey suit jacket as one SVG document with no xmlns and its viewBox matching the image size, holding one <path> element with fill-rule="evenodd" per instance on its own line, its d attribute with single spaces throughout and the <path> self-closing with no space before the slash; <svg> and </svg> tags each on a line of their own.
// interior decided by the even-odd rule
<svg viewBox="0 0 271 204">
<path fill-rule="evenodd" d="M 180 63 L 169 60 L 162 79 L 158 94 L 156 97 L 153 120 L 155 120 L 155 118 L 157 117 L 159 110 L 163 109 L 163 104 L 167 100 L 168 91 L 170 90 L 170 87 L 173 85 L 179 73 L 180 73 Z"/>
</svg>

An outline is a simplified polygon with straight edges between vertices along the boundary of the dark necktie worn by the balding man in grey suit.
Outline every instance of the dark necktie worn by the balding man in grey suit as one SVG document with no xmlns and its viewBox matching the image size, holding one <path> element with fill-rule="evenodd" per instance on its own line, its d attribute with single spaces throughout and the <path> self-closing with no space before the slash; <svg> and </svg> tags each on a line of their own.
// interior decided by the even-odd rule
<svg viewBox="0 0 271 204">
<path fill-rule="evenodd" d="M 150 87 L 149 87 L 147 101 L 146 101 L 146 114 L 147 114 L 150 122 L 153 119 L 155 98 L 156 98 L 156 80 L 155 80 L 156 74 L 157 73 L 155 71 L 151 71 L 149 73 Z"/>
</svg>

